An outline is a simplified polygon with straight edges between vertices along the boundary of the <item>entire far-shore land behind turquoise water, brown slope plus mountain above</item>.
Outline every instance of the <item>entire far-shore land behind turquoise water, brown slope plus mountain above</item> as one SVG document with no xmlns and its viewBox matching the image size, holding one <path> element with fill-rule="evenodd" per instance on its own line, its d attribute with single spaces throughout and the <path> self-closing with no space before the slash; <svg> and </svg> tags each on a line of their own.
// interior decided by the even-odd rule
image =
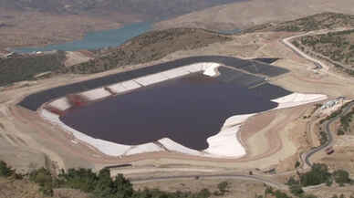
<svg viewBox="0 0 354 198">
<path fill-rule="evenodd" d="M 45 46 L 89 31 L 160 21 L 246 0 L 0 0 L 0 49 Z"/>
</svg>

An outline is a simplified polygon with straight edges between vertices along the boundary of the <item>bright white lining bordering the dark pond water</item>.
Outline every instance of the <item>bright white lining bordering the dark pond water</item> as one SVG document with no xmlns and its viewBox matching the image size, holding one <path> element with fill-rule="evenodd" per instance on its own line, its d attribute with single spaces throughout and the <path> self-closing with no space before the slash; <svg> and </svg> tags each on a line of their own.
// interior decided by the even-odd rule
<svg viewBox="0 0 354 198">
<path fill-rule="evenodd" d="M 203 74 L 206 76 L 214 77 L 218 75 L 217 68 L 220 66 L 221 65 L 217 63 L 196 63 L 182 68 L 173 68 L 146 77 L 131 79 L 129 81 L 110 85 L 106 88 L 92 89 L 79 93 L 78 95 L 82 97 L 82 99 L 103 99 L 111 95 L 131 91 L 133 89 L 139 89 L 164 80 L 178 78 L 200 71 L 203 71 Z M 279 99 L 273 99 L 272 101 L 278 103 L 276 109 L 285 109 L 317 102 L 323 99 L 327 99 L 327 96 L 320 94 L 292 93 Z M 168 138 L 162 138 L 159 141 L 147 142 L 140 145 L 123 145 L 111 141 L 103 141 L 92 138 L 78 130 L 68 127 L 68 125 L 59 119 L 61 115 L 60 112 L 64 112 L 66 109 L 71 108 L 72 105 L 73 101 L 70 101 L 70 99 L 64 97 L 47 103 L 39 109 L 39 113 L 42 118 L 48 120 L 50 123 L 59 126 L 62 130 L 71 132 L 78 141 L 89 143 L 89 145 L 93 146 L 95 149 L 110 156 L 127 156 L 153 151 L 176 151 L 203 157 L 239 158 L 244 156 L 246 153 L 244 145 L 242 145 L 237 138 L 237 132 L 240 130 L 245 120 L 256 114 L 234 115 L 228 118 L 225 120 L 222 129 L 216 135 L 207 139 L 209 147 L 204 151 L 196 151 Z"/>
</svg>

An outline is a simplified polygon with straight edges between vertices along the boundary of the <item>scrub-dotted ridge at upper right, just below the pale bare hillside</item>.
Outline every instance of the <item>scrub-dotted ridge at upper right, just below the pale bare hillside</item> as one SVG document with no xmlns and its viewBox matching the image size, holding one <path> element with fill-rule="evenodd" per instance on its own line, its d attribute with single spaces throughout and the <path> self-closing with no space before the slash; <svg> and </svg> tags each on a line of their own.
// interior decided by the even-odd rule
<svg viewBox="0 0 354 198">
<path fill-rule="evenodd" d="M 267 23 L 245 29 L 244 33 L 262 31 L 307 32 L 342 26 L 354 26 L 354 16 L 325 12 L 281 23 Z"/>
</svg>

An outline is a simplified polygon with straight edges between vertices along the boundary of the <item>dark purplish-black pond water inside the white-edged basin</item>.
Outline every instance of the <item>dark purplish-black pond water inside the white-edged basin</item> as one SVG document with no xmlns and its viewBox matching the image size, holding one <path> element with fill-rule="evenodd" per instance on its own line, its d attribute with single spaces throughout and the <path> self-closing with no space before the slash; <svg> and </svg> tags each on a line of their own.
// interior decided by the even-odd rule
<svg viewBox="0 0 354 198">
<path fill-rule="evenodd" d="M 265 92 L 278 90 L 265 85 Z M 167 137 L 203 150 L 227 118 L 276 108 L 259 90 L 198 73 L 71 109 L 61 120 L 106 141 L 135 145 Z"/>
</svg>

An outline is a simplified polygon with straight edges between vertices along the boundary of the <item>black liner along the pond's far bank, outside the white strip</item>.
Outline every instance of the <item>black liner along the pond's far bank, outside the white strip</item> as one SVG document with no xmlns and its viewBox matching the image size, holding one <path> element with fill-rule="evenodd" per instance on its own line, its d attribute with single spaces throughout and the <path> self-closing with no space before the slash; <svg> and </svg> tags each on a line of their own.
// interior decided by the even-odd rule
<svg viewBox="0 0 354 198">
<path fill-rule="evenodd" d="M 97 89 L 100 87 L 109 86 L 111 84 L 119 83 L 125 80 L 130 80 L 132 78 L 140 78 L 150 74 L 159 73 L 168 69 L 180 68 L 198 62 L 220 63 L 230 68 L 236 68 L 238 70 L 243 70 L 251 74 L 260 74 L 261 76 L 266 76 L 269 78 L 276 77 L 288 72 L 288 70 L 284 68 L 277 68 L 275 66 L 261 63 L 259 61 L 244 60 L 237 57 L 224 57 L 224 56 L 184 57 L 184 58 L 152 65 L 151 67 L 147 67 L 147 68 L 139 68 L 139 69 L 121 72 L 117 74 L 111 74 L 105 77 L 93 78 L 86 81 L 68 84 L 57 88 L 42 90 L 33 93 L 29 96 L 26 96 L 26 98 L 23 99 L 21 102 L 19 102 L 18 105 L 26 109 L 31 109 L 36 111 L 36 109 L 38 109 L 42 104 L 44 104 L 45 102 L 51 99 L 57 99 L 60 97 L 64 97 L 68 94 L 78 93 L 89 89 Z M 245 87 L 254 86 L 255 84 L 259 84 L 259 82 L 263 80 L 260 79 L 259 76 L 246 75 L 244 72 L 238 72 L 238 73 L 235 71 L 223 72 L 223 70 L 227 70 L 227 69 L 219 68 L 219 72 L 223 73 L 223 75 L 221 75 L 220 77 L 222 81 L 236 82 Z M 272 87 L 274 88 L 274 86 Z M 273 90 L 263 91 L 267 89 L 259 89 L 259 90 L 261 90 L 261 92 L 263 92 L 263 94 L 265 95 L 267 95 L 268 92 L 274 92 Z M 272 99 L 279 97 L 278 96 L 279 91 L 276 89 L 276 92 L 272 94 L 273 95 Z M 280 92 L 289 93 L 288 91 L 280 91 Z"/>
</svg>

